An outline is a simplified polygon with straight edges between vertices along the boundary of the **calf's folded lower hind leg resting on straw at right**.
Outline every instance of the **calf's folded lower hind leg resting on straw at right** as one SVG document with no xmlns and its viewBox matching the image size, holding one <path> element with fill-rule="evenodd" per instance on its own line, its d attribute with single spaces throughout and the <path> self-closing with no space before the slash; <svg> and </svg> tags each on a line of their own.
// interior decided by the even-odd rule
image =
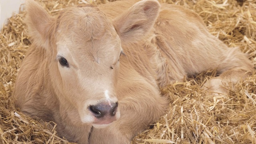
<svg viewBox="0 0 256 144">
<path fill-rule="evenodd" d="M 253 64 L 245 54 L 237 48 L 228 48 L 226 58 L 220 61 L 217 72 L 220 76 L 210 78 L 203 86 L 208 93 L 226 95 L 229 89 L 240 80 L 244 80 L 253 70 Z"/>
</svg>

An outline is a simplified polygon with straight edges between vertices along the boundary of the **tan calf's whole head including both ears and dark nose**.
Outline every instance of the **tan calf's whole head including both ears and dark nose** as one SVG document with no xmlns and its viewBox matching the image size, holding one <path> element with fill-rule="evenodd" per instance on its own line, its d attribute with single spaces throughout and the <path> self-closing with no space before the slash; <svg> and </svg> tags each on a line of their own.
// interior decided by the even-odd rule
<svg viewBox="0 0 256 144">
<path fill-rule="evenodd" d="M 49 81 L 60 108 L 66 108 L 73 121 L 101 128 L 120 117 L 116 85 L 121 43 L 141 40 L 159 9 L 156 0 L 143 0 L 114 20 L 90 5 L 52 18 L 34 0 L 27 0 L 32 43 L 45 51 Z"/>
</svg>

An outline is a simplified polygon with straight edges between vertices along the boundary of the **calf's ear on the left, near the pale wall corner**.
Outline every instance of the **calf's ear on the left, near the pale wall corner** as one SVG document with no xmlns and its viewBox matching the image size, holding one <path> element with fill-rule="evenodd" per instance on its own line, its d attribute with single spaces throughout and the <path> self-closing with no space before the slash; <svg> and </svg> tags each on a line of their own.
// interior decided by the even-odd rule
<svg viewBox="0 0 256 144">
<path fill-rule="evenodd" d="M 26 0 L 26 24 L 33 43 L 38 46 L 48 47 L 49 29 L 52 18 L 46 10 L 34 0 Z"/>
</svg>

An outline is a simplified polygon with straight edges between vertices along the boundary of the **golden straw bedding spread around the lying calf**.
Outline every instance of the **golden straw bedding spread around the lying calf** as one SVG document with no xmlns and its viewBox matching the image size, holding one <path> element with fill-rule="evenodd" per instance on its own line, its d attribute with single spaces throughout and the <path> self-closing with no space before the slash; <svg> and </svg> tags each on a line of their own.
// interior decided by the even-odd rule
<svg viewBox="0 0 256 144">
<path fill-rule="evenodd" d="M 108 0 L 87 1 L 94 4 Z M 40 0 L 51 15 L 85 0 Z M 230 47 L 239 47 L 256 65 L 256 0 L 160 0 L 193 9 L 209 31 Z M 12 104 L 18 68 L 30 45 L 25 12 L 9 19 L 0 34 L 0 143 L 67 143 L 55 126 L 24 116 Z M 170 109 L 138 134 L 134 144 L 256 144 L 256 74 L 236 85 L 228 96 L 208 96 L 200 86 L 215 72 L 207 71 L 162 88 Z"/>
</svg>

